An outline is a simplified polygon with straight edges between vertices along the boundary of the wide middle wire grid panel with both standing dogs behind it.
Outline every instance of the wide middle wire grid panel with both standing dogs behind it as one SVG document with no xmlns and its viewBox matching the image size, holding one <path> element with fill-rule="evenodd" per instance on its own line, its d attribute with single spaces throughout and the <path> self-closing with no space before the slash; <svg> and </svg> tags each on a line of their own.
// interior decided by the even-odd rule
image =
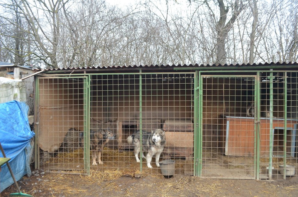
<svg viewBox="0 0 298 197">
<path fill-rule="evenodd" d="M 159 162 L 175 161 L 170 167 L 173 175 L 193 175 L 193 81 L 190 73 L 92 75 L 90 133 L 112 133 L 108 141 L 102 141 L 106 144 L 100 153 L 92 148 L 96 143 L 91 136 L 92 169 L 161 175 L 165 165 L 158 167 L 155 154 L 161 151 Z M 141 153 L 135 156 L 140 130 L 147 160 L 140 158 Z M 156 130 L 159 133 L 152 137 Z M 129 143 L 129 136 L 136 143 Z"/>
</svg>

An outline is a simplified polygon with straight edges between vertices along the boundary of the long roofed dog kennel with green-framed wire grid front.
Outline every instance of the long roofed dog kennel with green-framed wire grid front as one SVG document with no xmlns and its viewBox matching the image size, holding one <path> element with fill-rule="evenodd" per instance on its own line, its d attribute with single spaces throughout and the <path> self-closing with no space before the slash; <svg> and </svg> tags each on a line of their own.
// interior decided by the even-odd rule
<svg viewBox="0 0 298 197">
<path fill-rule="evenodd" d="M 165 131 L 160 161 L 174 175 L 285 179 L 297 169 L 296 63 L 49 69 L 35 84 L 36 168 L 161 175 L 137 162 L 127 137 Z M 115 134 L 92 166 L 90 133 Z M 142 148 L 142 152 L 146 147 Z M 296 175 L 296 171 L 295 171 Z"/>
</svg>

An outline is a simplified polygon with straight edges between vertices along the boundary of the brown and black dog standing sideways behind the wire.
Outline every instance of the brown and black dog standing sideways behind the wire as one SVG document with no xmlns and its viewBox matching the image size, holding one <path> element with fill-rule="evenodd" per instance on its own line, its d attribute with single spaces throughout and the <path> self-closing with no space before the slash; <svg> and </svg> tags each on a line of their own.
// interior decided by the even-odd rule
<svg viewBox="0 0 298 197">
<path fill-rule="evenodd" d="M 92 165 L 104 164 L 101 161 L 101 153 L 104 149 L 105 145 L 108 143 L 109 140 L 115 139 L 115 134 L 113 134 L 110 130 L 99 129 L 97 131 L 90 130 L 90 148 L 92 151 Z"/>
</svg>

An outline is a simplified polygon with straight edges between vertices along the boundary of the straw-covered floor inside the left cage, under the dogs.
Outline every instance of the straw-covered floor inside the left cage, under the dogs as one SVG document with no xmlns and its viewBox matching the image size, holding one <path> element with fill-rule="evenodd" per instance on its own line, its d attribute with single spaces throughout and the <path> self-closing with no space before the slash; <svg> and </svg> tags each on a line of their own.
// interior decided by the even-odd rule
<svg viewBox="0 0 298 197">
<path fill-rule="evenodd" d="M 67 157 L 71 155 L 71 157 Z M 74 153 L 60 153 L 56 157 L 51 157 L 48 161 L 41 162 L 40 167 L 44 170 L 59 170 L 59 171 L 80 171 L 84 169 L 82 149 L 75 150 Z M 77 158 L 75 158 L 77 157 Z M 162 161 L 167 158 L 160 158 Z M 193 175 L 193 161 L 186 161 L 185 158 L 171 158 L 175 161 L 175 175 Z M 150 174 L 161 174 L 160 169 L 155 164 L 155 157 L 152 158 L 152 168 L 147 168 L 146 160 L 142 160 L 142 169 L 140 163 L 136 162 L 133 151 L 118 151 L 113 149 L 105 149 L 101 155 L 102 165 L 92 166 L 92 156 L 90 154 L 90 168 L 92 170 L 125 170 L 125 171 L 142 171 Z"/>
</svg>

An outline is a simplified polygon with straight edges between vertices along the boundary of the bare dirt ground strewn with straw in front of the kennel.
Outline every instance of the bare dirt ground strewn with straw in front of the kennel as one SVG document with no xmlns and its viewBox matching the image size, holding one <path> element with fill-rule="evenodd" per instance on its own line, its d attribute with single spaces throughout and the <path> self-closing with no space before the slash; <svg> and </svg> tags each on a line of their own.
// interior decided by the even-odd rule
<svg viewBox="0 0 298 197">
<path fill-rule="evenodd" d="M 18 181 L 21 191 L 36 196 L 298 196 L 298 177 L 282 181 L 200 179 L 199 177 L 141 174 L 134 178 L 123 171 L 91 171 L 65 175 L 32 171 Z M 1 197 L 17 192 L 13 184 Z"/>
</svg>

